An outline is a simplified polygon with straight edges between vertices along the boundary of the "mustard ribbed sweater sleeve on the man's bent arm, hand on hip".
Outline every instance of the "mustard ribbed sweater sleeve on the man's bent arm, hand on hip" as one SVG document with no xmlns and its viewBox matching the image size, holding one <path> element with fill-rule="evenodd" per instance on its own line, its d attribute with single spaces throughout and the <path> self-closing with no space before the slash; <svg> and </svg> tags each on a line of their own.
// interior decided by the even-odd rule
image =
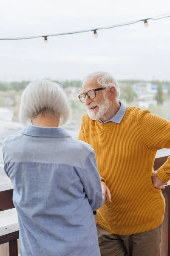
<svg viewBox="0 0 170 256">
<path fill-rule="evenodd" d="M 138 113 L 138 121 L 143 143 L 149 150 L 170 148 L 170 122 L 151 114 L 148 110 Z M 170 157 L 158 169 L 157 175 L 163 182 L 170 180 Z"/>
</svg>

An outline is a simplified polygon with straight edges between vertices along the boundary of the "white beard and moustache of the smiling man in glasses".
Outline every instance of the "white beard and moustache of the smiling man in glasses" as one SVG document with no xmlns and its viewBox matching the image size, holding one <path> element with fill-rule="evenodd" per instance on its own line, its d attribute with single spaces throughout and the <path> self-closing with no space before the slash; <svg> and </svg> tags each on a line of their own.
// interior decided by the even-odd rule
<svg viewBox="0 0 170 256">
<path fill-rule="evenodd" d="M 91 107 L 98 106 L 99 110 L 95 113 L 93 110 L 91 110 Z M 110 101 L 108 99 L 105 99 L 105 102 L 103 104 L 98 103 L 91 103 L 88 106 L 88 116 L 92 120 L 97 120 L 102 118 L 103 115 L 108 111 L 110 108 Z"/>
</svg>

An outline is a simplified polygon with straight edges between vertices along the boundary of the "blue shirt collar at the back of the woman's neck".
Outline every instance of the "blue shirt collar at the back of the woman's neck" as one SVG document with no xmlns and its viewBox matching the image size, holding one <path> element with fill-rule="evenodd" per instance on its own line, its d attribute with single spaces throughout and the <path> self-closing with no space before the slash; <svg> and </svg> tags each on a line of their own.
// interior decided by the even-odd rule
<svg viewBox="0 0 170 256">
<path fill-rule="evenodd" d="M 63 128 L 47 128 L 38 127 L 34 125 L 28 125 L 22 132 L 22 134 L 37 137 L 71 137 Z"/>
</svg>

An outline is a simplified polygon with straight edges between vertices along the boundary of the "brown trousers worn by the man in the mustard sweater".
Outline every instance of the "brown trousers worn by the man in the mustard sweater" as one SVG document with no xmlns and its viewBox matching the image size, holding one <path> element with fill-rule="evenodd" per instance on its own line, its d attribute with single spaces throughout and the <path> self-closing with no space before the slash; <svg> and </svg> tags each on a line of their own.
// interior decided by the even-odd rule
<svg viewBox="0 0 170 256">
<path fill-rule="evenodd" d="M 101 256 L 160 256 L 161 227 L 129 236 L 115 235 L 97 225 Z"/>
</svg>

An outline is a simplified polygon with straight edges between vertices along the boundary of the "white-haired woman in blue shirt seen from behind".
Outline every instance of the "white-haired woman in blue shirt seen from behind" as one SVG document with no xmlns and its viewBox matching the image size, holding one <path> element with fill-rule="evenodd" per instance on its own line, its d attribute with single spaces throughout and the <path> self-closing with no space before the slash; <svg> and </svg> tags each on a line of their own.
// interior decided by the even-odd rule
<svg viewBox="0 0 170 256">
<path fill-rule="evenodd" d="M 67 97 L 59 84 L 30 83 L 19 113 L 27 127 L 3 141 L 21 256 L 100 255 L 93 216 L 103 204 L 96 156 L 90 145 L 58 128 L 68 116 Z"/>
</svg>

